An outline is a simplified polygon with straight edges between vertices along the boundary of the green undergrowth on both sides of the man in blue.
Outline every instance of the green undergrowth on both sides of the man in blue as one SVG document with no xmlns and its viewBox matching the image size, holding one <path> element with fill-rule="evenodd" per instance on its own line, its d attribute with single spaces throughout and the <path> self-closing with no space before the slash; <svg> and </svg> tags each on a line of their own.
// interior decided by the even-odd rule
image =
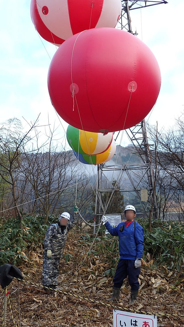
<svg viewBox="0 0 184 327">
<path fill-rule="evenodd" d="M 144 229 L 144 254 L 150 254 L 154 267 L 163 266 L 168 270 L 184 271 L 184 224 L 154 220 L 152 232 L 148 232 L 149 221 L 136 219 Z M 102 227 L 103 228 L 103 227 Z M 80 244 L 92 246 L 94 238 L 89 234 L 83 235 Z M 111 235 L 96 237 L 89 256 L 103 255 L 104 264 L 107 265 L 106 276 L 113 276 L 119 261 L 118 237 Z"/>
</svg>

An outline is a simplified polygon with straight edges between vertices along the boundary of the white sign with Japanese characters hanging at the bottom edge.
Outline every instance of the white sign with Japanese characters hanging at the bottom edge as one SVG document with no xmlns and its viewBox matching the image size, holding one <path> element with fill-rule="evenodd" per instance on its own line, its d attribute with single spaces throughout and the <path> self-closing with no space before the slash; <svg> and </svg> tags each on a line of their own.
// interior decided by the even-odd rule
<svg viewBox="0 0 184 327">
<path fill-rule="evenodd" d="M 157 327 L 157 317 L 113 310 L 113 327 Z"/>
</svg>

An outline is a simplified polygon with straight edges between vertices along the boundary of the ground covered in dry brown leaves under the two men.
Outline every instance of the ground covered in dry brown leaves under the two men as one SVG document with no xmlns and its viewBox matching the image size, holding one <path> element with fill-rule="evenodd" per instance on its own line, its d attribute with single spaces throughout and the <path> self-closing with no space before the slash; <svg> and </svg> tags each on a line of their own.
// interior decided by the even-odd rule
<svg viewBox="0 0 184 327">
<path fill-rule="evenodd" d="M 103 253 L 86 256 L 89 249 L 85 244 L 80 246 L 79 242 L 77 235 L 70 233 L 65 253 L 71 253 L 73 259 L 68 263 L 61 261 L 58 277 L 58 289 L 72 296 L 58 292 L 50 294 L 36 285 L 42 283 L 42 251 L 29 253 L 31 261 L 19 267 L 27 282 L 19 283 L 21 326 L 113 326 L 113 308 L 91 301 L 108 304 L 106 298 L 111 294 L 113 284 L 112 277 L 104 276 L 104 272 L 109 264 L 104 261 Z M 130 288 L 125 280 L 121 299 L 115 305 L 156 314 L 158 326 L 184 326 L 184 317 L 178 316 L 184 315 L 184 275 L 168 272 L 163 267 L 155 269 L 151 264 L 151 261 L 142 261 L 137 303 L 130 306 Z M 19 326 L 18 282 L 15 279 L 8 291 L 13 317 Z M 78 298 L 80 296 L 89 300 Z M 2 290 L 0 300 L 2 311 Z M 12 326 L 8 308 L 7 327 Z"/>
</svg>

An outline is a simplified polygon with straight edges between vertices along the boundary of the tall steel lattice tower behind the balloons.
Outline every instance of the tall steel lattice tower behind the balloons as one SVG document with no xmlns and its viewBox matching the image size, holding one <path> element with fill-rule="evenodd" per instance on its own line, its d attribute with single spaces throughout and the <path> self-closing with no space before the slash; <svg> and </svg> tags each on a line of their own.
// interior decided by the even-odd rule
<svg viewBox="0 0 184 327">
<path fill-rule="evenodd" d="M 125 29 L 127 32 L 132 33 L 134 35 L 137 35 L 137 32 L 132 32 L 131 28 L 131 18 L 130 18 L 130 11 L 135 9 L 141 9 L 145 7 L 155 6 L 159 4 L 166 4 L 167 1 L 160 0 L 160 1 L 149 1 L 149 0 L 126 0 L 122 1 L 122 13 L 121 17 L 118 21 L 118 28 Z M 120 133 L 120 132 L 119 132 Z M 119 133 L 115 133 L 114 136 L 115 140 L 117 139 Z M 135 192 L 137 195 L 137 198 L 140 200 L 141 206 L 142 206 L 142 213 L 149 217 L 149 204 L 153 203 L 153 218 L 156 219 L 158 217 L 158 207 L 157 207 L 157 201 L 156 196 L 153 196 L 153 185 L 154 185 L 154 173 L 152 168 L 152 162 L 151 162 L 151 155 L 150 155 L 150 148 L 148 144 L 147 139 L 147 133 L 146 133 L 146 126 L 145 126 L 145 120 L 142 120 L 139 124 L 136 126 L 126 129 L 125 133 L 130 141 L 130 143 L 133 146 L 133 152 L 137 156 L 139 156 L 141 163 L 140 164 L 123 164 L 123 166 L 116 167 L 116 166 L 109 166 L 107 164 L 100 164 L 97 166 L 97 183 L 96 183 L 96 198 L 95 198 L 95 222 L 96 218 L 101 217 L 101 215 L 104 214 L 102 211 L 102 200 L 101 200 L 101 194 L 104 192 L 109 192 L 111 194 L 111 199 L 108 203 L 106 203 L 105 212 L 108 213 L 108 205 L 111 204 L 113 201 L 113 194 L 115 192 Z M 125 188 L 118 188 L 111 187 L 104 188 L 103 186 L 103 180 L 107 180 L 109 182 L 109 179 L 107 178 L 106 173 L 108 171 L 120 171 L 121 176 L 123 174 L 126 174 L 126 178 L 128 178 L 129 183 L 131 187 L 129 189 Z M 137 174 L 137 171 L 139 171 L 139 178 L 135 179 L 134 175 Z M 147 181 L 147 185 L 145 186 L 145 181 Z M 143 186 L 144 185 L 144 186 Z M 142 188 L 147 189 L 147 195 L 148 199 L 146 203 L 142 203 L 141 201 L 141 190 Z M 120 213 L 117 213 L 120 214 Z M 98 219 L 98 220 L 99 220 Z M 95 233 L 95 226 L 94 226 L 94 233 Z"/>
</svg>

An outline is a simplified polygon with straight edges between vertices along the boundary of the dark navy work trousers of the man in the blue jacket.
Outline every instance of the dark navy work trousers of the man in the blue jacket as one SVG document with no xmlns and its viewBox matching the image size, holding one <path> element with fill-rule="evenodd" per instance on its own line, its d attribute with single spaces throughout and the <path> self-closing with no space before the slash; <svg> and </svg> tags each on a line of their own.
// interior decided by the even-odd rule
<svg viewBox="0 0 184 327">
<path fill-rule="evenodd" d="M 113 278 L 114 287 L 121 288 L 124 279 L 128 276 L 128 282 L 132 291 L 139 290 L 138 277 L 141 268 L 135 267 L 135 260 L 120 259 Z"/>
</svg>

